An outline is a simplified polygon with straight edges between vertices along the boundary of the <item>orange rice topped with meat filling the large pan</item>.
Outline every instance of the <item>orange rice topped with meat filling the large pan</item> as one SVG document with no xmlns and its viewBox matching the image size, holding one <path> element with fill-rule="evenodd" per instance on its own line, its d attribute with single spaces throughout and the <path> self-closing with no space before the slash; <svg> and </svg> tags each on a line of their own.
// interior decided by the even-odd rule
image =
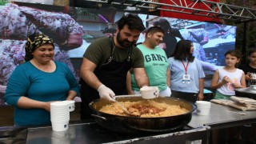
<svg viewBox="0 0 256 144">
<path fill-rule="evenodd" d="M 142 100 L 138 102 L 120 102 L 130 114 L 139 115 L 142 118 L 170 117 L 173 115 L 185 114 L 189 112 L 178 105 L 170 105 L 165 102 L 155 102 L 154 100 Z M 107 114 L 129 116 L 117 102 L 102 106 L 99 111 Z"/>
</svg>

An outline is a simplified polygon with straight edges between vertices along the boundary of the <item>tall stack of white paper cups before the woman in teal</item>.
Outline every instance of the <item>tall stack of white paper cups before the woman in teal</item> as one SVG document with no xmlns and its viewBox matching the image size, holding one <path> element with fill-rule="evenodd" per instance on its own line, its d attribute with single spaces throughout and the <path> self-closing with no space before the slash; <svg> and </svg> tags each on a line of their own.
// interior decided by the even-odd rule
<svg viewBox="0 0 256 144">
<path fill-rule="evenodd" d="M 66 102 L 50 103 L 50 121 L 54 131 L 68 130 L 70 110 Z"/>
</svg>

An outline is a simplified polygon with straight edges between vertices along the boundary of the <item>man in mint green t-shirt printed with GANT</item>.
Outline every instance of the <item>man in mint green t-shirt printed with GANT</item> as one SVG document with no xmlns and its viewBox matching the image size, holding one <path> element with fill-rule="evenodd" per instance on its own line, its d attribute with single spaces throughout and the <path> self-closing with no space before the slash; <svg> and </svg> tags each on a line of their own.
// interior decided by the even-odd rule
<svg viewBox="0 0 256 144">
<path fill-rule="evenodd" d="M 138 45 L 138 49 L 142 51 L 144 56 L 144 67 L 146 74 L 150 80 L 150 86 L 158 86 L 160 96 L 170 97 L 170 70 L 167 62 L 166 53 L 160 47 L 164 31 L 159 26 L 150 27 L 146 31 L 146 39 Z M 128 74 L 129 76 L 129 74 Z M 128 77 L 129 78 L 129 77 Z M 138 94 L 139 87 L 134 79 L 133 71 L 130 73 L 130 79 L 127 80 L 127 90 L 129 94 Z"/>
</svg>

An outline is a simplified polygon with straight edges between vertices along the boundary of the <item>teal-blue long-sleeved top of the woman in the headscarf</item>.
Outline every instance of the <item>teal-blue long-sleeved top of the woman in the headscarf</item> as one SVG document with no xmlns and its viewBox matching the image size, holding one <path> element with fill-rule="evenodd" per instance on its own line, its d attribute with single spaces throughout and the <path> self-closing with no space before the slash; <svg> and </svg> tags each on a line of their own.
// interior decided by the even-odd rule
<svg viewBox="0 0 256 144">
<path fill-rule="evenodd" d="M 30 62 L 17 66 L 11 74 L 6 88 L 5 102 L 15 106 L 14 123 L 18 126 L 50 124 L 50 113 L 43 109 L 23 109 L 17 106 L 19 98 L 25 96 L 41 102 L 66 100 L 69 90 L 79 92 L 74 74 L 62 62 L 55 62 L 56 70 L 47 73 L 38 70 Z"/>
</svg>

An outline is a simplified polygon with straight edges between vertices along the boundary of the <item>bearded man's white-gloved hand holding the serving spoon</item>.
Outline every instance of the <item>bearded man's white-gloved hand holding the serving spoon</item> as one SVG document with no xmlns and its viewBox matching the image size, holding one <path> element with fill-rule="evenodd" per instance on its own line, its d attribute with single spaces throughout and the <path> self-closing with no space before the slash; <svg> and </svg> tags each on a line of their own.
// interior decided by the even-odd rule
<svg viewBox="0 0 256 144">
<path fill-rule="evenodd" d="M 105 85 L 98 87 L 98 94 L 99 94 L 99 97 L 102 99 L 115 102 L 114 92 L 110 88 L 106 87 Z"/>
</svg>

